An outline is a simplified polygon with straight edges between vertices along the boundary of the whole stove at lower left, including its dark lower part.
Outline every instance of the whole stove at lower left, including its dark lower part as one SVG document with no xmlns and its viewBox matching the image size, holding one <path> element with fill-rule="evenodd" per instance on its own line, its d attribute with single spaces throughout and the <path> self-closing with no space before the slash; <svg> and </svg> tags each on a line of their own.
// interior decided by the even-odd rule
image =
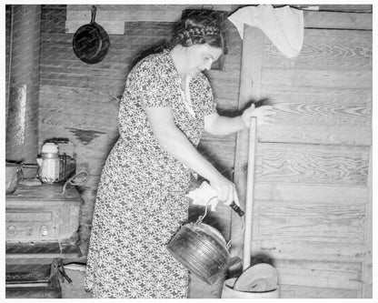
<svg viewBox="0 0 378 303">
<path fill-rule="evenodd" d="M 6 298 L 61 298 L 59 271 L 77 245 L 80 205 L 73 186 L 20 186 L 5 198 Z"/>
</svg>

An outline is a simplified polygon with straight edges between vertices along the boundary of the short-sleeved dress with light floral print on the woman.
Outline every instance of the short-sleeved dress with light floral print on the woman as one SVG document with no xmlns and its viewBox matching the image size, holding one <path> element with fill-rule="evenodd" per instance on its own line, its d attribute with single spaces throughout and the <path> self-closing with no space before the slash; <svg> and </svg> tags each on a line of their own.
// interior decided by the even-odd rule
<svg viewBox="0 0 378 303">
<path fill-rule="evenodd" d="M 190 168 L 155 138 L 145 107 L 172 108 L 175 125 L 197 146 L 204 116 L 215 112 L 200 73 L 185 105 L 168 51 L 145 57 L 127 76 L 120 137 L 105 161 L 94 205 L 85 289 L 94 298 L 186 298 L 188 271 L 166 249 L 188 217 Z"/>
</svg>

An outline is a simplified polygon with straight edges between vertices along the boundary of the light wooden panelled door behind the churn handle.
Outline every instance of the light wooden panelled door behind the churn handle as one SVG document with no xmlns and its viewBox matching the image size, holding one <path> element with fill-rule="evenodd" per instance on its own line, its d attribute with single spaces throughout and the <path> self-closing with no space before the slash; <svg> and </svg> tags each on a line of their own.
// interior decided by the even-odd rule
<svg viewBox="0 0 378 303">
<path fill-rule="evenodd" d="M 372 298 L 372 15 L 306 12 L 304 25 L 293 59 L 244 27 L 239 106 L 267 98 L 277 112 L 258 129 L 252 255 L 274 259 L 281 298 Z M 241 228 L 233 217 L 232 237 Z"/>
</svg>

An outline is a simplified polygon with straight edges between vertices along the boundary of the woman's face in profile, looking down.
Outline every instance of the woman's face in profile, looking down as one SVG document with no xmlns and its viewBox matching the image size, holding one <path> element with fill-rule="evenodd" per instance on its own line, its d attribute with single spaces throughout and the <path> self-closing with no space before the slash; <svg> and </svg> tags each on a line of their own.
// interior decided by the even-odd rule
<svg viewBox="0 0 378 303">
<path fill-rule="evenodd" d="M 222 48 L 208 44 L 192 45 L 185 48 L 185 62 L 182 63 L 181 74 L 196 76 L 205 69 L 210 69 L 213 62 L 222 55 Z"/>
</svg>

